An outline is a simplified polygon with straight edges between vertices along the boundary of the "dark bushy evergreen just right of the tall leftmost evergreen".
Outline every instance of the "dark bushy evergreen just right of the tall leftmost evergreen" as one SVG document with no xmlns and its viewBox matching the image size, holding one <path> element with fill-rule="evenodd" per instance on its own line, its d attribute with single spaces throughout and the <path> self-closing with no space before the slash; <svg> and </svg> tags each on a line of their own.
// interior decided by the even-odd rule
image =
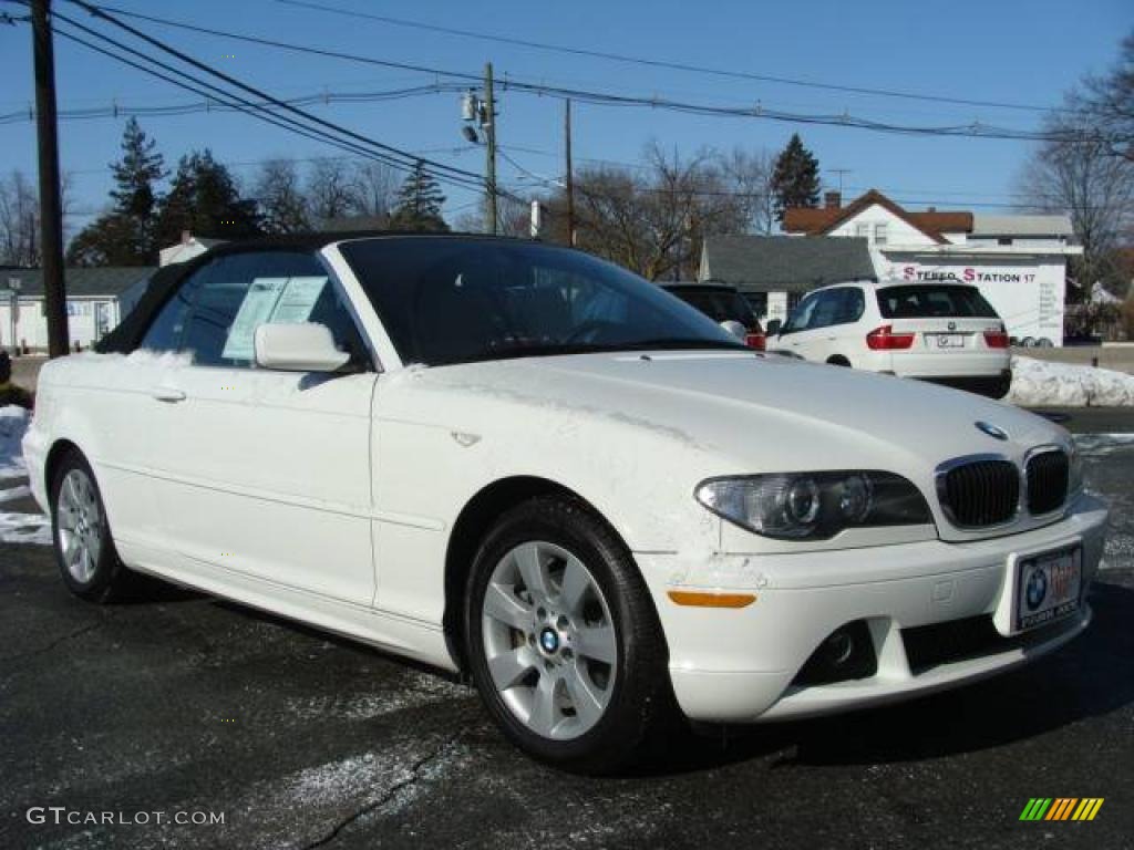
<svg viewBox="0 0 1134 850">
<path fill-rule="evenodd" d="M 194 151 L 177 163 L 177 173 L 158 212 L 161 245 L 180 240 L 184 231 L 194 236 L 235 239 L 260 233 L 256 202 L 240 197 L 229 170 L 212 152 Z"/>
</svg>

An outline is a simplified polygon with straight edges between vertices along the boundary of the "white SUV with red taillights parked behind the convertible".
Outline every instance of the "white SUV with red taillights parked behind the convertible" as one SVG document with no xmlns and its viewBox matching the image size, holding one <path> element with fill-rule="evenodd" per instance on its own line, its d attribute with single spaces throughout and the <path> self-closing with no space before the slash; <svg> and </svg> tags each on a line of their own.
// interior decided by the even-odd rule
<svg viewBox="0 0 1134 850">
<path fill-rule="evenodd" d="M 769 350 L 1001 398 L 1012 383 L 1004 322 L 975 287 L 837 283 L 799 301 Z"/>
</svg>

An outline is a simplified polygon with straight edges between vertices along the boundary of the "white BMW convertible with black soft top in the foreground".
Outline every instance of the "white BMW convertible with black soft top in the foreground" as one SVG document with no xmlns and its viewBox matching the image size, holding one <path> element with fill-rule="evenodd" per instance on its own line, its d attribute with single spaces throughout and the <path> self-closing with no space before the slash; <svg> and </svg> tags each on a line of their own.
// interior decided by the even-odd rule
<svg viewBox="0 0 1134 850">
<path fill-rule="evenodd" d="M 467 674 L 527 753 L 971 682 L 1086 628 L 1067 433 L 744 347 L 528 241 L 333 236 L 170 266 L 24 441 L 64 581 L 130 571 Z"/>
</svg>

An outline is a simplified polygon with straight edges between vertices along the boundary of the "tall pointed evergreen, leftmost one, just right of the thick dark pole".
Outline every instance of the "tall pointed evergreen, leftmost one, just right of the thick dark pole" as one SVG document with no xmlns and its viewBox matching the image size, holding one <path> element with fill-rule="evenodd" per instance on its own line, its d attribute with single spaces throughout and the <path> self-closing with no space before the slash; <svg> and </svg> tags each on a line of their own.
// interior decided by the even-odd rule
<svg viewBox="0 0 1134 850">
<path fill-rule="evenodd" d="M 122 158 L 110 164 L 113 206 L 75 237 L 67 249 L 76 265 L 146 265 L 154 262 L 154 184 L 166 177 L 156 142 L 130 118 L 122 133 Z"/>
</svg>

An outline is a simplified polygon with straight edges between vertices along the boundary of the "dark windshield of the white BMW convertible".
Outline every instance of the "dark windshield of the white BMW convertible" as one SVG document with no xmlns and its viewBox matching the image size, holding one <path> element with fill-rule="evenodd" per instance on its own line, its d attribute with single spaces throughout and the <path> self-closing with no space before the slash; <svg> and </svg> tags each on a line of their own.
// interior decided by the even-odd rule
<svg viewBox="0 0 1134 850">
<path fill-rule="evenodd" d="M 339 248 L 407 364 L 748 350 L 659 287 L 569 248 L 421 236 L 359 239 Z"/>
</svg>

